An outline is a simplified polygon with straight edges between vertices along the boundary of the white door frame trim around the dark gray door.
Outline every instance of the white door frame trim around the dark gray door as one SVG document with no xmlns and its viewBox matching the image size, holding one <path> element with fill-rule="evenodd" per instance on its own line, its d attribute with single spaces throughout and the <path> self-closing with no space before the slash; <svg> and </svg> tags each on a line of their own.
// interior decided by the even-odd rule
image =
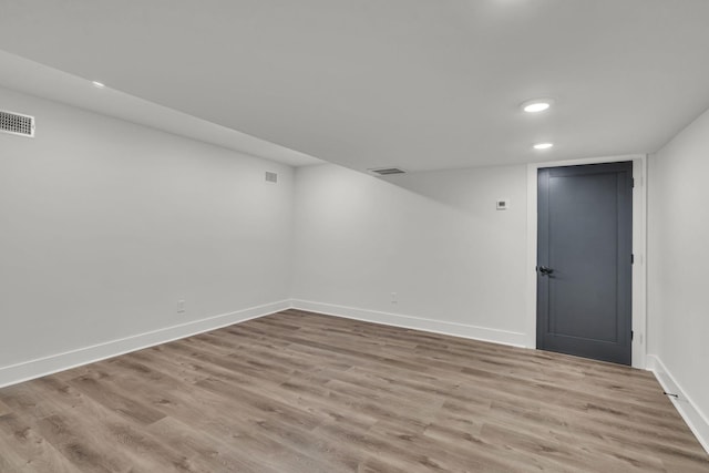
<svg viewBox="0 0 709 473">
<path fill-rule="evenodd" d="M 590 157 L 585 160 L 534 163 L 527 165 L 527 268 L 526 268 L 526 311 L 525 346 L 536 348 L 536 195 L 537 171 L 542 167 L 577 166 L 583 164 L 618 163 L 633 161 L 635 189 L 633 198 L 633 367 L 645 369 L 647 354 L 647 156 L 624 155 L 608 157 Z"/>
</svg>

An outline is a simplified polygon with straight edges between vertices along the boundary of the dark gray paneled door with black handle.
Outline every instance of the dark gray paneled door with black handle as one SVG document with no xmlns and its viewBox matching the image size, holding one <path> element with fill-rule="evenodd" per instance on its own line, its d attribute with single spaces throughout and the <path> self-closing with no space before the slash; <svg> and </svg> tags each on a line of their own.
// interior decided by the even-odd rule
<svg viewBox="0 0 709 473">
<path fill-rule="evenodd" d="M 633 163 L 538 171 L 537 348 L 630 364 Z"/>
</svg>

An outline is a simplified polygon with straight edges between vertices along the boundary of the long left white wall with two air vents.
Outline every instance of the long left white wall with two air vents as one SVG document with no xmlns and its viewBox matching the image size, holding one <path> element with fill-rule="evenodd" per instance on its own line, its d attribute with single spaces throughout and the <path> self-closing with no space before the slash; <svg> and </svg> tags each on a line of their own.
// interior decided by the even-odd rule
<svg viewBox="0 0 709 473">
<path fill-rule="evenodd" d="M 0 134 L 0 384 L 14 363 L 289 297 L 291 167 L 4 89 L 0 109 L 38 124 Z"/>
</svg>

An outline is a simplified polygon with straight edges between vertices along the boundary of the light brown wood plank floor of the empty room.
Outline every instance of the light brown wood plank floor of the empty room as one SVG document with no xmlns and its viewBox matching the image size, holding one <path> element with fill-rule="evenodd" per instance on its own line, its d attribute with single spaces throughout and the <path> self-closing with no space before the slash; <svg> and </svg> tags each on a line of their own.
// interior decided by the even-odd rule
<svg viewBox="0 0 709 473">
<path fill-rule="evenodd" d="M 0 390 L 1 472 L 707 472 L 649 372 L 287 310 Z"/>
</svg>

